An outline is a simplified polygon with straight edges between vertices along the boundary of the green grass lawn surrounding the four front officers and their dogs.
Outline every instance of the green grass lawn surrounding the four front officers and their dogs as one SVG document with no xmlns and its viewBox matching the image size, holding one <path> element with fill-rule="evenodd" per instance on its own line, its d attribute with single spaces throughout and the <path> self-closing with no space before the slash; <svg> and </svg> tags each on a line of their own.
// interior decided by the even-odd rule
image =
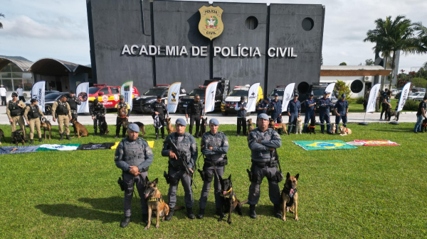
<svg viewBox="0 0 427 239">
<path fill-rule="evenodd" d="M 10 126 L 0 126 L 10 142 Z M 242 201 L 248 197 L 246 174 L 251 152 L 245 137 L 234 136 L 236 126 L 220 126 L 230 141 L 229 165 L 233 189 Z M 120 228 L 122 196 L 114 164 L 114 150 L 32 152 L 1 155 L 1 238 L 426 238 L 427 237 L 427 134 L 414 134 L 413 123 L 392 126 L 370 123 L 349 124 L 353 134 L 282 135 L 279 149 L 283 170 L 300 173 L 299 204 L 295 221 L 273 218 L 268 183 L 261 185 L 258 218 L 233 213 L 231 225 L 214 216 L 213 187 L 203 220 L 189 220 L 185 210 L 176 211 L 172 221 L 160 228 L 144 230 L 139 201 L 133 199 L 132 223 Z M 88 126 L 90 133 L 93 128 Z M 111 130 L 111 129 L 110 129 Z M 318 130 L 318 129 L 317 129 Z M 28 131 L 28 130 L 27 130 Z M 114 142 L 106 137 L 48 143 Z M 154 128 L 147 126 L 147 140 L 154 140 Z M 358 146 L 353 150 L 306 151 L 292 140 L 387 139 L 401 146 Z M 200 143 L 199 139 L 196 139 Z M 38 141 L 38 140 L 37 140 Z M 38 142 L 37 142 L 38 143 Z M 43 142 L 44 143 L 44 142 Z M 3 146 L 10 145 L 4 143 Z M 163 175 L 167 158 L 161 157 L 162 143 L 154 144 L 154 162 L 149 178 L 159 177 L 159 189 L 167 199 Z M 199 211 L 202 182 L 194 189 L 194 212 Z M 280 187 L 283 187 L 280 183 Z M 184 205 L 184 191 L 178 188 L 177 205 Z"/>
</svg>

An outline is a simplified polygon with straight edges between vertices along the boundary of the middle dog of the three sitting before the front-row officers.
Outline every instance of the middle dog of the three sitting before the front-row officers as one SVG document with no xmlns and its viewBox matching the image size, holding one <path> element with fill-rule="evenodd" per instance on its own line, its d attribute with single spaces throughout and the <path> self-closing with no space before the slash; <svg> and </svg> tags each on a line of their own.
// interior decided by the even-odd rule
<svg viewBox="0 0 427 239">
<path fill-rule="evenodd" d="M 219 176 L 219 175 L 218 175 Z M 228 220 L 227 223 L 231 224 L 231 212 L 236 210 L 238 215 L 242 216 L 242 203 L 237 199 L 236 193 L 233 191 L 233 184 L 231 183 L 231 174 L 228 179 L 223 179 L 219 176 L 219 181 L 221 183 L 221 194 L 224 198 L 223 210 L 228 211 Z M 243 202 L 246 204 L 246 201 Z M 219 216 L 218 221 L 222 221 L 223 213 Z"/>
</svg>

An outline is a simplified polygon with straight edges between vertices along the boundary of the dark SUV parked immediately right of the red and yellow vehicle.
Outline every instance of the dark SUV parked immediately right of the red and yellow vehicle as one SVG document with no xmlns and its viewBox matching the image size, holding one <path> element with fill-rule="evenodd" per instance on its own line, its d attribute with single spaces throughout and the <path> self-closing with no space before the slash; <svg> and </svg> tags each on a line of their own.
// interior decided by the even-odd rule
<svg viewBox="0 0 427 239">
<path fill-rule="evenodd" d="M 167 91 L 169 90 L 169 84 L 157 84 L 156 87 L 145 91 L 141 96 L 136 96 L 132 100 L 132 111 L 139 113 L 151 113 L 151 104 L 156 101 L 157 96 L 162 96 L 162 101 L 167 104 Z M 179 89 L 179 97 L 186 96 L 186 91 L 181 87 Z"/>
</svg>

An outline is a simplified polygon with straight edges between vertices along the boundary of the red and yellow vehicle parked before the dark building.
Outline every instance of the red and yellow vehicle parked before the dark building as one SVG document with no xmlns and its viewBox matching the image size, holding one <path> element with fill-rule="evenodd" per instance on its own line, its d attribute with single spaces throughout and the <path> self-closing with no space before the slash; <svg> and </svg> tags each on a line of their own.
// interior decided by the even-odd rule
<svg viewBox="0 0 427 239">
<path fill-rule="evenodd" d="M 92 104 L 93 100 L 97 98 L 105 108 L 114 108 L 120 101 L 120 88 L 107 86 L 107 84 L 93 84 L 93 87 L 89 87 L 89 104 Z M 136 87 L 133 87 L 132 99 L 135 96 L 139 96 L 139 92 Z"/>
</svg>

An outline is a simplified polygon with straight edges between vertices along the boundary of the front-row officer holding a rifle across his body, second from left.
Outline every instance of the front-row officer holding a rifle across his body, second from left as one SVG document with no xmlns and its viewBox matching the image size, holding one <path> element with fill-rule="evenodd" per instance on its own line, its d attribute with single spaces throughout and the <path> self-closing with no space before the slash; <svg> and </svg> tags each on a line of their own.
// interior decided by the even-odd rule
<svg viewBox="0 0 427 239">
<path fill-rule="evenodd" d="M 189 166 L 189 171 L 193 172 L 194 165 L 197 160 L 197 143 L 194 137 L 185 132 L 186 122 L 183 118 L 178 118 L 175 122 L 176 132 L 171 133 L 167 136 L 176 145 L 176 148 L 183 150 L 185 154 L 186 163 Z M 176 204 L 176 189 L 178 182 L 181 179 L 182 187 L 184 188 L 184 201 L 187 211 L 187 216 L 190 219 L 194 219 L 193 213 L 193 189 L 191 189 L 190 176 L 186 174 L 185 170 L 179 164 L 177 155 L 171 150 L 171 146 L 167 143 L 163 144 L 162 156 L 169 157 L 169 192 L 167 198 L 169 201 L 169 214 L 165 220 L 169 221 L 174 216 L 174 207 Z"/>
</svg>

